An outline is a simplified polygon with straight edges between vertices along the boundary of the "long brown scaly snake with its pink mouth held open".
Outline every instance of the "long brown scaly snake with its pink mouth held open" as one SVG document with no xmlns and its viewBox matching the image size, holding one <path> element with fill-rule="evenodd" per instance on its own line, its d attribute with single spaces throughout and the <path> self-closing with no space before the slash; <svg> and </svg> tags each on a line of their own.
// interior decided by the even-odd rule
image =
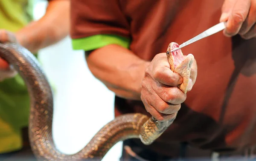
<svg viewBox="0 0 256 161">
<path fill-rule="evenodd" d="M 183 56 L 181 49 L 170 52 L 176 47 L 177 43 L 170 43 L 166 55 L 171 70 L 183 77 L 179 88 L 186 93 L 194 57 L 192 54 Z M 79 152 L 64 154 L 52 138 L 53 94 L 40 63 L 28 49 L 17 43 L 0 43 L 0 57 L 17 71 L 28 89 L 29 142 L 38 161 L 101 161 L 117 142 L 140 138 L 143 144 L 149 145 L 173 122 L 157 121 L 141 113 L 123 114 L 99 129 Z"/>
</svg>

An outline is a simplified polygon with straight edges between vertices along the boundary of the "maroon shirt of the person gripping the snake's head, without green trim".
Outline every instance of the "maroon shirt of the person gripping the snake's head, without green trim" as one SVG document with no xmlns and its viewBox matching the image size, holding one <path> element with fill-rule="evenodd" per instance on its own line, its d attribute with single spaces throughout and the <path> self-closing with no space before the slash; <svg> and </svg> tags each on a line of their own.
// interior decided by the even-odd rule
<svg viewBox="0 0 256 161">
<path fill-rule="evenodd" d="M 219 23 L 223 0 L 72 0 L 72 38 L 115 34 L 131 38 L 144 60 L 166 52 Z M 182 49 L 198 63 L 198 78 L 174 123 L 152 145 L 177 152 L 187 141 L 204 150 L 241 150 L 256 145 L 256 39 L 219 32 Z M 116 97 L 115 113 L 141 112 L 141 101 Z M 138 144 L 141 144 L 138 141 Z M 143 145 L 141 145 L 143 146 Z M 157 148 L 156 148 L 157 147 Z"/>
</svg>

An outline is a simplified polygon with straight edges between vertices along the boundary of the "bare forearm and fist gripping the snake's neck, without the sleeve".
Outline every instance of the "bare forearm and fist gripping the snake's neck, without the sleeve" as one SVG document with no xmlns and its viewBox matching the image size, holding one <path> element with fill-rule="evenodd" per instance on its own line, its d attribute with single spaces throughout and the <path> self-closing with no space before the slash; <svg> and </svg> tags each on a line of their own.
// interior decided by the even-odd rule
<svg viewBox="0 0 256 161">
<path fill-rule="evenodd" d="M 186 94 L 177 88 L 183 79 L 170 69 L 166 53 L 145 61 L 113 44 L 86 55 L 90 71 L 108 89 L 122 98 L 142 100 L 145 109 L 159 121 L 174 119 L 180 103 L 186 100 Z M 196 73 L 197 66 L 193 63 L 193 83 L 189 90 L 195 83 Z"/>
</svg>

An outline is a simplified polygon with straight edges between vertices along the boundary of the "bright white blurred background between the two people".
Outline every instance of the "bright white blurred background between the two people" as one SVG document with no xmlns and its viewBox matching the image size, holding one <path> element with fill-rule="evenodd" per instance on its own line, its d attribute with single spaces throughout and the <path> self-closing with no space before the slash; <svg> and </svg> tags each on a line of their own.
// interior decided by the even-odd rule
<svg viewBox="0 0 256 161">
<path fill-rule="evenodd" d="M 46 0 L 37 0 L 35 19 L 44 15 Z M 70 37 L 42 49 L 39 59 L 47 77 L 55 84 L 53 137 L 61 152 L 81 150 L 105 124 L 114 118 L 114 94 L 94 78 L 83 51 L 74 51 Z M 105 155 L 103 161 L 119 161 L 122 143 Z"/>
</svg>

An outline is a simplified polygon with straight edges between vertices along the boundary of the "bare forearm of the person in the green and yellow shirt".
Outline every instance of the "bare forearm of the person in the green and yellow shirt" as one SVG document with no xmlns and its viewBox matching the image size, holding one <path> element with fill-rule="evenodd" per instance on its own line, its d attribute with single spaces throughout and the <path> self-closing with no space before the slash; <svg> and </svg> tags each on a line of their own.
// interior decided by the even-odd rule
<svg viewBox="0 0 256 161">
<path fill-rule="evenodd" d="M 51 0 L 45 15 L 15 33 L 17 41 L 30 52 L 52 45 L 69 33 L 70 0 Z"/>
</svg>

